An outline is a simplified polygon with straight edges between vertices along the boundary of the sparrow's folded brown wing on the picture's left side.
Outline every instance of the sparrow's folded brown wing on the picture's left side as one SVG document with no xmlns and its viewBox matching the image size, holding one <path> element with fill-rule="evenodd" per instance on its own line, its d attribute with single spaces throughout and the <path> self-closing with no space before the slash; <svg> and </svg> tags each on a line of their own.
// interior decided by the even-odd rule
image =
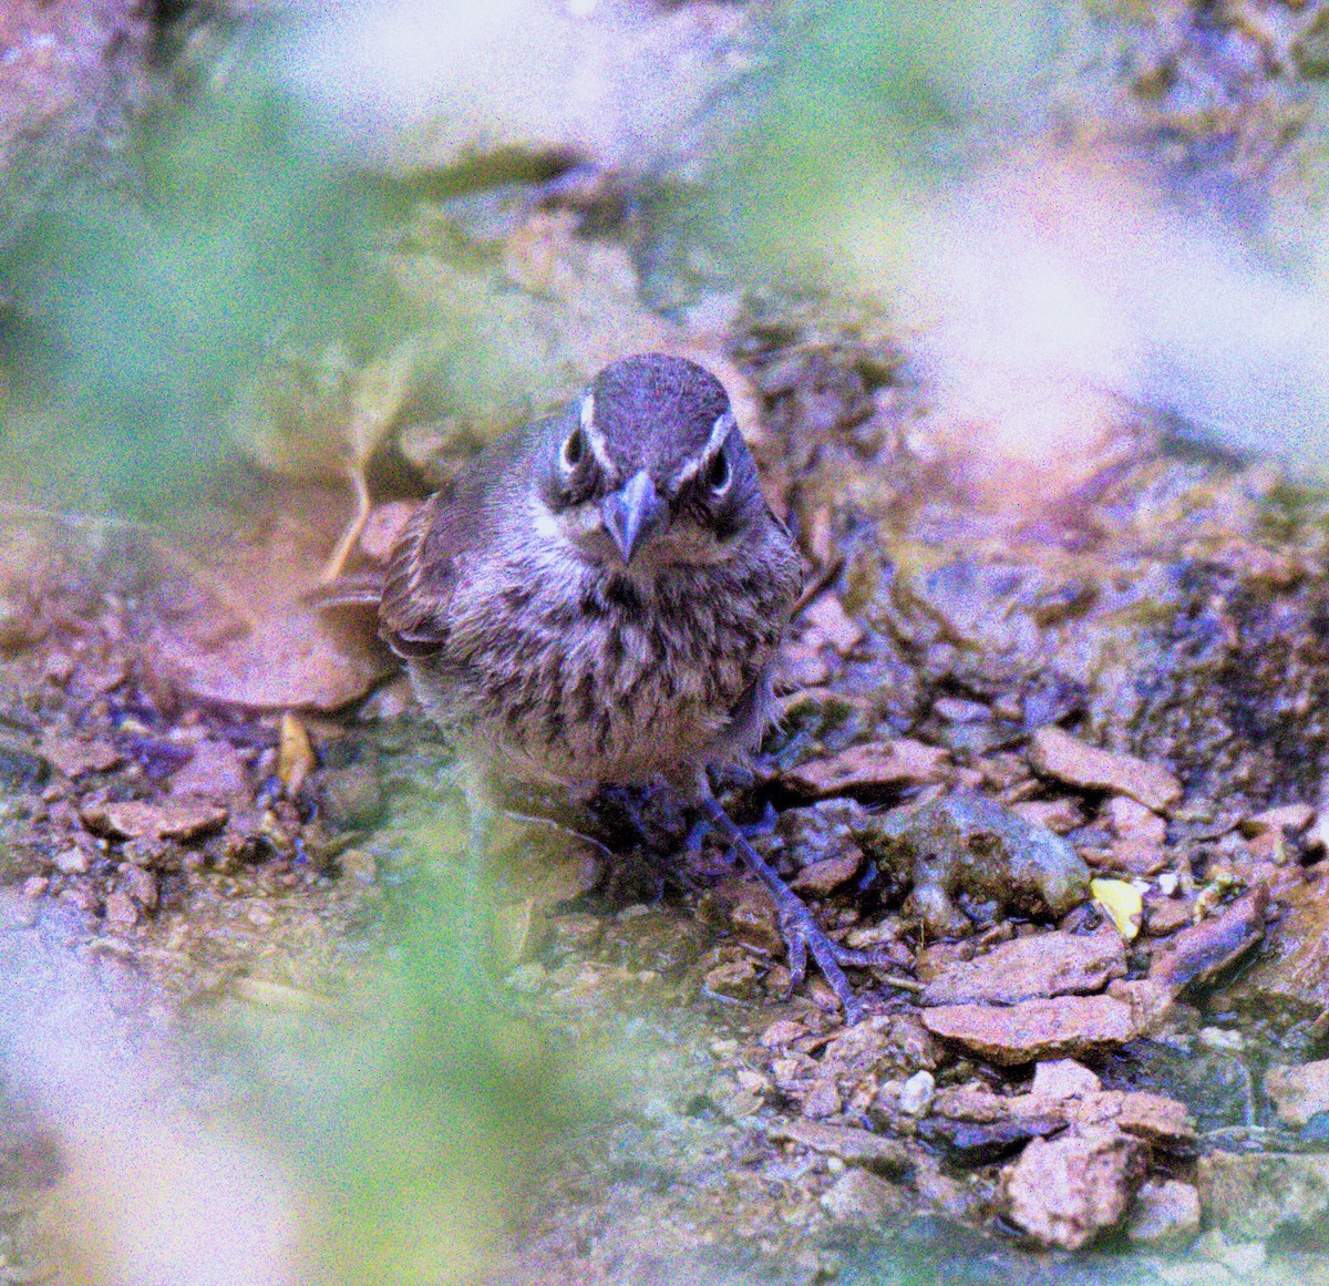
<svg viewBox="0 0 1329 1286">
<path fill-rule="evenodd" d="M 448 640 L 448 606 L 468 553 L 492 541 L 496 492 L 521 474 L 525 436 L 509 436 L 484 452 L 452 494 L 431 496 L 411 517 L 388 561 L 379 624 L 399 656 L 429 656 Z"/>
</svg>

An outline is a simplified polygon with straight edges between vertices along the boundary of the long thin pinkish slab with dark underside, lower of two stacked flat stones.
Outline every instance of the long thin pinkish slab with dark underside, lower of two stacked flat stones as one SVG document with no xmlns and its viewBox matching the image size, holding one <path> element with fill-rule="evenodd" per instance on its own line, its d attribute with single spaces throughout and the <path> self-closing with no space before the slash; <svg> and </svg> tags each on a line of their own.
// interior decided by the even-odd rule
<svg viewBox="0 0 1329 1286">
<path fill-rule="evenodd" d="M 921 1016 L 934 1036 L 1003 1065 L 1114 1048 L 1139 1035 L 1131 1006 L 1106 995 L 1022 1000 L 1006 1008 L 945 1004 Z"/>
</svg>

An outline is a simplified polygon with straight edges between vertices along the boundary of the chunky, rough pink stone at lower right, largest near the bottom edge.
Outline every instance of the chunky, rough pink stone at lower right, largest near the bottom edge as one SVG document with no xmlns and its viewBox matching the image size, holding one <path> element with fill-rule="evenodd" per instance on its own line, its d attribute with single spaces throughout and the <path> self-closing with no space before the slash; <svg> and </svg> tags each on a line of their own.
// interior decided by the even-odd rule
<svg viewBox="0 0 1329 1286">
<path fill-rule="evenodd" d="M 1140 1144 L 1111 1125 L 1034 1139 L 1002 1170 L 1007 1216 L 1045 1246 L 1079 1250 L 1126 1214 L 1144 1174 Z"/>
</svg>

